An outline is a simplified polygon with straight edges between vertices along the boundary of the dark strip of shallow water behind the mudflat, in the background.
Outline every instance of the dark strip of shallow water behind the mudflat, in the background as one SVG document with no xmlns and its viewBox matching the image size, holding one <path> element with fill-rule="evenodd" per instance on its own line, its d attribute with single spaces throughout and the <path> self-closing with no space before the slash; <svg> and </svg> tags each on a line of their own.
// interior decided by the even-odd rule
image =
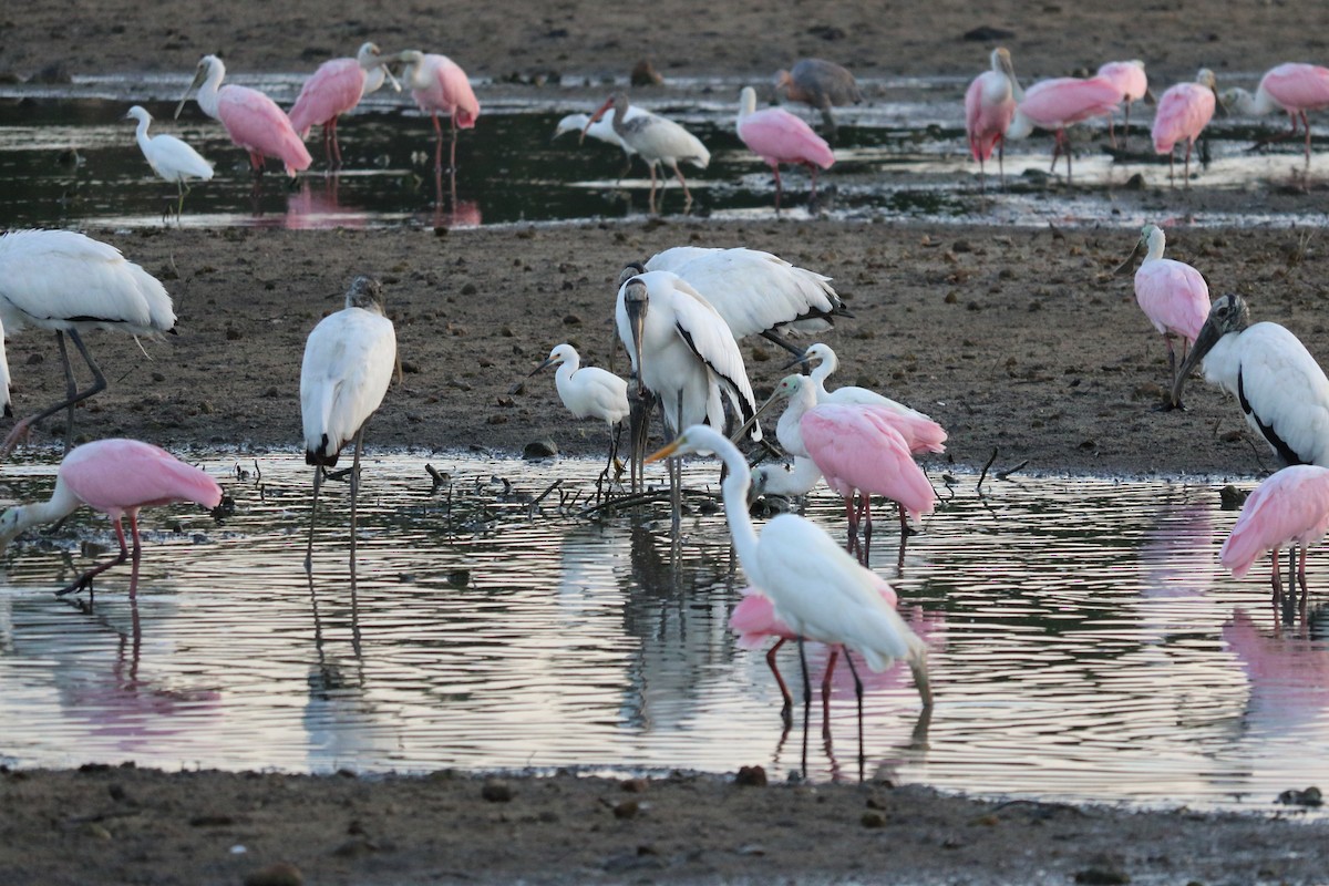
<svg viewBox="0 0 1329 886">
<path fill-rule="evenodd" d="M 302 82 L 291 74 L 234 80 L 268 92 L 283 106 Z M 451 179 L 435 175 L 432 124 L 401 96 L 380 90 L 343 122 L 346 166 L 338 175 L 323 171 L 320 137 L 312 133 L 312 171 L 290 187 L 272 174 L 255 185 L 243 151 L 194 102 L 181 121 L 171 121 L 186 85 L 182 73 L 86 78 L 60 88 L 0 86 L 0 98 L 16 100 L 0 102 L 0 218 L 16 227 L 162 224 L 174 209 L 175 189 L 153 175 L 134 142 L 133 122 L 122 120 L 134 102 L 158 118 L 152 132 L 179 135 L 217 162 L 217 177 L 197 185 L 185 203 L 186 226 L 468 227 L 641 217 L 647 209 L 649 178 L 641 162 L 619 179 L 623 161 L 617 147 L 594 139 L 578 146 L 574 134 L 553 138 L 563 114 L 594 109 L 585 84 L 514 93 L 485 85 L 485 113 L 459 141 L 455 190 Z M 645 101 L 688 126 L 712 151 L 708 169 L 684 166 L 696 198 L 694 214 L 773 217 L 769 171 L 734 133 L 736 102 L 728 96 L 736 96 L 740 85 L 688 81 Z M 998 189 L 994 177 L 983 195 L 966 153 L 964 86 L 954 78 L 869 82 L 872 102 L 840 113 L 837 162 L 821 175 L 821 201 L 812 210 L 837 219 L 1058 226 L 1138 227 L 1168 215 L 1200 226 L 1325 221 L 1322 201 L 1309 194 L 1304 202 L 1285 201 L 1290 209 L 1277 211 L 1252 213 L 1247 203 L 1232 211 L 1197 211 L 1184 193 L 1168 190 L 1166 163 L 1148 155 L 1114 162 L 1103 153 L 1103 125 L 1071 130 L 1079 151 L 1075 187 L 1047 187 L 1051 145 L 1047 137 L 1035 137 L 1009 146 L 1007 190 Z M 1212 162 L 1196 173 L 1192 187 L 1240 193 L 1305 185 L 1300 142 L 1269 153 L 1247 151 L 1255 138 L 1281 125 L 1273 118 L 1212 124 Z M 1138 120 L 1132 134 L 1135 150 L 1146 149 L 1147 132 Z M 1321 181 L 1325 162 L 1313 161 L 1310 183 Z M 1063 175 L 1065 165 L 1058 170 Z M 1120 199 L 1135 175 L 1140 177 L 1135 187 L 1162 189 L 1162 203 Z M 784 179 L 785 215 L 807 218 L 807 174 L 785 171 Z M 662 211 L 682 210 L 678 183 L 670 179 Z"/>
</svg>

